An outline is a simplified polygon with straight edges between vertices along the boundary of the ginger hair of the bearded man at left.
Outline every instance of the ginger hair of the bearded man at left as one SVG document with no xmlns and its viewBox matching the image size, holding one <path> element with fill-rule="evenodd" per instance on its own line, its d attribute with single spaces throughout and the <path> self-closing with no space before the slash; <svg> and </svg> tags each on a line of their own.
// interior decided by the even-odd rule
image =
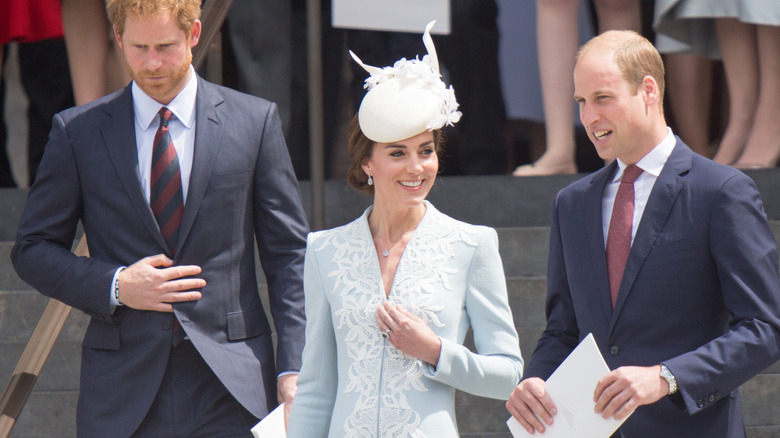
<svg viewBox="0 0 780 438">
<path fill-rule="evenodd" d="M 128 15 L 149 18 L 162 12 L 176 17 L 179 29 L 189 36 L 192 24 L 200 18 L 200 4 L 201 0 L 107 0 L 106 11 L 120 36 L 125 32 Z"/>
</svg>

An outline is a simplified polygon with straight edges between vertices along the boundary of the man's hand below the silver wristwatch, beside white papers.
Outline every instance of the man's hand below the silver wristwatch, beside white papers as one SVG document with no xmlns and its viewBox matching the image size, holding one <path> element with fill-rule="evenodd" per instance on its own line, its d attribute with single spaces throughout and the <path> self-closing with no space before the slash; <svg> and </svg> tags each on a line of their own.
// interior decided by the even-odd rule
<svg viewBox="0 0 780 438">
<path fill-rule="evenodd" d="M 642 405 L 649 405 L 669 393 L 661 377 L 661 366 L 620 367 L 599 380 L 593 392 L 594 411 L 604 418 L 622 420 Z"/>
</svg>

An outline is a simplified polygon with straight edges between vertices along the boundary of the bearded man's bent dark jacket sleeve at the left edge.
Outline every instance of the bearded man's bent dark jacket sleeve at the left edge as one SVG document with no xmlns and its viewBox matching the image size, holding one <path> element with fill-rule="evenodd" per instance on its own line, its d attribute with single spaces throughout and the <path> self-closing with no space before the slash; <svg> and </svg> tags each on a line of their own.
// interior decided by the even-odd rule
<svg viewBox="0 0 780 438">
<path fill-rule="evenodd" d="M 112 321 L 109 294 L 119 266 L 70 251 L 83 204 L 67 126 L 57 114 L 27 196 L 11 260 L 19 277 L 43 295 Z"/>
</svg>

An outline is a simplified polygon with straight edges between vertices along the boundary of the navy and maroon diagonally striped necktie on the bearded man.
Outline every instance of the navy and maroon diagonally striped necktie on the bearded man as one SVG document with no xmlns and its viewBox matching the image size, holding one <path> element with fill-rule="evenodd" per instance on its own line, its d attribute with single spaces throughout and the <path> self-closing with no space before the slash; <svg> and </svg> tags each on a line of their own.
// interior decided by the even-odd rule
<svg viewBox="0 0 780 438">
<path fill-rule="evenodd" d="M 179 157 L 173 146 L 168 122 L 171 120 L 171 110 L 160 109 L 160 127 L 154 134 L 154 150 L 152 152 L 152 189 L 149 202 L 152 206 L 157 224 L 160 226 L 168 249 L 176 253 L 176 238 L 184 211 L 184 200 L 181 189 L 181 171 Z"/>
</svg>

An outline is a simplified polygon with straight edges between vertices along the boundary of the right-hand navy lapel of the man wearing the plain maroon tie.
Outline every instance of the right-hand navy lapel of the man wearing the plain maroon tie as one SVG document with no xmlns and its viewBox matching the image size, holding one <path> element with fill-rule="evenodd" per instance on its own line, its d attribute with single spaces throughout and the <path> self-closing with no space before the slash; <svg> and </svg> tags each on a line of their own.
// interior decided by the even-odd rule
<svg viewBox="0 0 780 438">
<path fill-rule="evenodd" d="M 631 245 L 631 252 L 628 255 L 626 270 L 623 273 L 623 281 L 620 283 L 620 292 L 610 323 L 610 331 L 631 293 L 642 265 L 666 224 L 680 190 L 685 186 L 685 179 L 682 175 L 690 170 L 692 158 L 693 152 L 678 138 L 672 154 L 661 169 L 661 174 L 658 175 L 653 190 L 650 192 L 647 206 L 642 214 L 642 221 L 639 223 L 634 243 Z"/>
</svg>

